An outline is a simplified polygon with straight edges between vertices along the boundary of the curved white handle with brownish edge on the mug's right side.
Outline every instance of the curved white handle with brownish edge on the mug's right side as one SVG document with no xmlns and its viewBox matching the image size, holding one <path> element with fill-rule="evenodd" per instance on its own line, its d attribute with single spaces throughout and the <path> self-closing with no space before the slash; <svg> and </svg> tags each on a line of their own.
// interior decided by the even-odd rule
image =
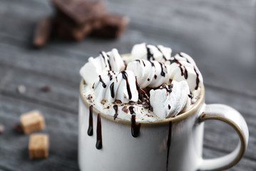
<svg viewBox="0 0 256 171">
<path fill-rule="evenodd" d="M 240 141 L 235 150 L 228 155 L 215 159 L 202 159 L 199 170 L 225 170 L 237 164 L 245 153 L 249 139 L 245 119 L 237 110 L 228 105 L 210 104 L 205 106 L 204 112 L 199 116 L 199 123 L 203 123 L 205 120 L 221 120 L 231 125 L 239 135 Z"/>
</svg>

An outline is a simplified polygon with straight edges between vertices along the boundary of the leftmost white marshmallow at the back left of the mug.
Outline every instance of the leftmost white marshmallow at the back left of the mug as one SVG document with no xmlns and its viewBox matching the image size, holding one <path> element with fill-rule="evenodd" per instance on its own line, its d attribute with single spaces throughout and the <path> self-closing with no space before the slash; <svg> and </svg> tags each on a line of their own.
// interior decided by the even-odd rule
<svg viewBox="0 0 256 171">
<path fill-rule="evenodd" d="M 112 51 L 107 53 L 101 51 L 100 56 L 97 58 L 88 58 L 88 63 L 81 68 L 80 75 L 86 83 L 93 85 L 103 70 L 118 72 L 122 71 L 125 67 L 118 50 L 113 48 Z"/>
</svg>

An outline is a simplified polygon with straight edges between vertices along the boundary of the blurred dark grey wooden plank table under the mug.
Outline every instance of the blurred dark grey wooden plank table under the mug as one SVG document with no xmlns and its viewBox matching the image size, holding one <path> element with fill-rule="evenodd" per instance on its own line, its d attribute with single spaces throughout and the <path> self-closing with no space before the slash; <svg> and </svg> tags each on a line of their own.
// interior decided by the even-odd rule
<svg viewBox="0 0 256 171">
<path fill-rule="evenodd" d="M 49 1 L 0 0 L 0 170 L 78 170 L 79 69 L 89 56 L 118 48 L 128 53 L 134 43 L 153 43 L 184 51 L 203 73 L 206 103 L 224 103 L 242 113 L 249 125 L 245 156 L 230 170 L 256 170 L 256 67 L 254 10 L 238 0 L 109 0 L 106 8 L 130 18 L 118 40 L 86 38 L 80 43 L 53 40 L 31 48 L 39 19 L 53 13 Z M 16 88 L 26 86 L 26 93 Z M 51 86 L 48 93 L 40 90 Z M 41 110 L 50 136 L 46 160 L 29 160 L 29 135 L 16 133 L 19 115 Z M 205 124 L 204 156 L 225 155 L 237 135 L 218 121 Z"/>
</svg>

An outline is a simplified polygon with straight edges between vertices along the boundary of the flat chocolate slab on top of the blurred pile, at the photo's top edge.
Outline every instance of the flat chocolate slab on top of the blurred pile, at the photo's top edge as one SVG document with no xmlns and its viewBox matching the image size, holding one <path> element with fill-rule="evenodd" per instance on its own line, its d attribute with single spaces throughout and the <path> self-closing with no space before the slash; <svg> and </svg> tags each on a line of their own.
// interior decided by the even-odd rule
<svg viewBox="0 0 256 171">
<path fill-rule="evenodd" d="M 101 18 L 105 13 L 101 1 L 52 0 L 52 2 L 56 7 L 57 15 L 68 18 L 78 25 Z"/>
</svg>

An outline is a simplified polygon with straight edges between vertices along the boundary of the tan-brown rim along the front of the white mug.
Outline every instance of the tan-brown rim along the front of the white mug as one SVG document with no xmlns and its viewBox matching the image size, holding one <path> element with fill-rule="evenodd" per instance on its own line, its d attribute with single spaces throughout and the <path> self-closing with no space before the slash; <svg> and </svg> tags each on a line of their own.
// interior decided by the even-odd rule
<svg viewBox="0 0 256 171">
<path fill-rule="evenodd" d="M 83 103 L 89 108 L 90 104 L 87 102 L 86 97 L 83 95 L 83 86 L 86 85 L 86 82 L 84 79 L 81 79 L 80 83 L 80 98 L 83 100 Z M 200 91 L 200 98 L 195 102 L 192 108 L 190 110 L 186 111 L 185 113 L 181 113 L 180 115 L 176 115 L 175 118 L 165 118 L 163 120 L 156 120 L 154 122 L 149 122 L 149 121 L 138 121 L 136 123 L 141 123 L 141 125 L 165 125 L 169 124 L 170 122 L 176 123 L 180 120 L 185 120 L 185 118 L 190 117 L 191 115 L 195 114 L 196 111 L 203 105 L 205 102 L 205 86 L 200 86 L 201 91 Z M 93 106 L 93 113 L 101 113 L 97 108 L 94 108 Z M 130 125 L 130 120 L 123 120 L 120 118 L 116 118 L 116 120 L 113 119 L 112 115 L 106 115 L 104 113 L 101 113 L 101 118 L 105 118 L 107 120 L 110 120 L 114 123 L 123 123 L 123 124 L 128 124 Z"/>
</svg>

